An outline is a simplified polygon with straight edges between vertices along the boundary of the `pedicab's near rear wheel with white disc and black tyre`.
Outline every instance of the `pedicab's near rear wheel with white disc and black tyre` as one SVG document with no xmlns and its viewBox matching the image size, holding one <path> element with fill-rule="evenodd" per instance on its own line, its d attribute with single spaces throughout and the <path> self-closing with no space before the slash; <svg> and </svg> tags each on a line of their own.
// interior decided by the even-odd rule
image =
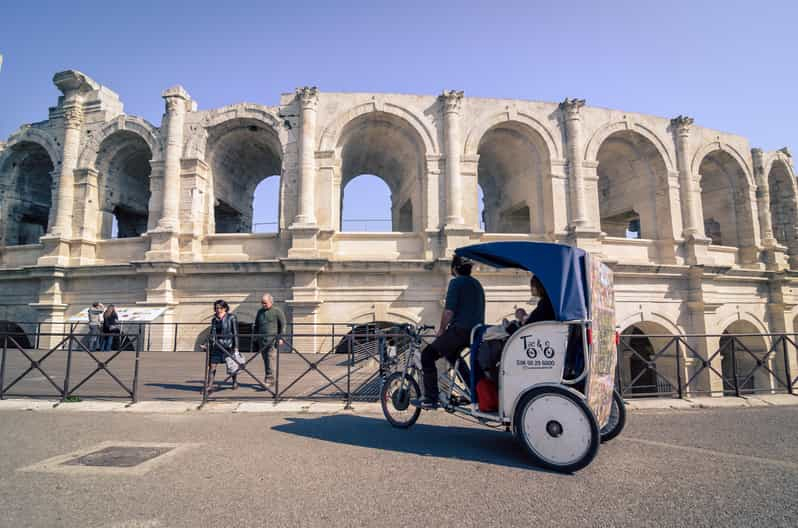
<svg viewBox="0 0 798 528">
<path fill-rule="evenodd" d="M 595 458 L 599 428 L 593 412 L 563 387 L 526 393 L 515 408 L 513 428 L 536 465 L 554 471 L 578 471 Z"/>
</svg>

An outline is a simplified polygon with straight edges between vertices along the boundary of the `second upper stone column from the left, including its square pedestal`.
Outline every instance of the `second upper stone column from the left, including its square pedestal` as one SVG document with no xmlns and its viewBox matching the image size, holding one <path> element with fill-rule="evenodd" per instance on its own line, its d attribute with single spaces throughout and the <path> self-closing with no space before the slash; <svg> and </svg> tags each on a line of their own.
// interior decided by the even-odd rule
<svg viewBox="0 0 798 528">
<path fill-rule="evenodd" d="M 180 160 L 183 156 L 183 128 L 191 98 L 182 86 L 173 86 L 162 94 L 166 103 L 164 129 L 166 149 L 164 152 L 163 178 L 161 179 L 161 215 L 155 229 L 148 232 L 150 250 L 147 260 L 179 260 L 180 232 Z"/>
</svg>

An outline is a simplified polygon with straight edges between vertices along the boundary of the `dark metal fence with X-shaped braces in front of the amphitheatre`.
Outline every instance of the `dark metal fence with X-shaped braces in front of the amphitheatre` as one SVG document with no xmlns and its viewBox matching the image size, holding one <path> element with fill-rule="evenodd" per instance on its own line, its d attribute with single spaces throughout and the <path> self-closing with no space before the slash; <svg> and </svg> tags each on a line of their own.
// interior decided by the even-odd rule
<svg viewBox="0 0 798 528">
<path fill-rule="evenodd" d="M 207 323 L 126 323 L 110 351 L 95 350 L 91 340 L 98 336 L 86 325 L 66 324 L 61 332 L 44 331 L 52 325 L 42 323 L 17 325 L 0 328 L 0 399 L 376 400 L 385 358 L 405 353 L 410 343 L 407 333 L 383 323 L 292 324 L 279 339 L 249 327 L 240 332 L 239 356 L 222 347 L 221 359 L 233 368 L 219 362 L 221 375 L 210 386 L 217 390 L 209 392 L 214 343 L 202 335 Z M 173 333 L 172 347 L 155 351 L 152 334 L 164 328 Z M 186 335 L 199 336 L 192 337 L 198 346 L 181 349 Z M 204 353 L 172 353 L 198 352 L 201 344 Z M 625 334 L 617 354 L 617 388 L 625 398 L 798 394 L 798 335 L 792 333 Z M 232 370 L 239 390 L 232 389 Z"/>
</svg>

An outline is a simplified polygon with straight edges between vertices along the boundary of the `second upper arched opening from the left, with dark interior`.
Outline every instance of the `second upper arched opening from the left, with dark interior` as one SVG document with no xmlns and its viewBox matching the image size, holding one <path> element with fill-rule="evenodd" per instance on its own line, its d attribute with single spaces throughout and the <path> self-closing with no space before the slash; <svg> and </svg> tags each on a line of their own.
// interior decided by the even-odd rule
<svg viewBox="0 0 798 528">
<path fill-rule="evenodd" d="M 114 132 L 100 144 L 100 238 L 137 237 L 147 231 L 151 159 L 147 142 L 133 132 Z"/>
</svg>

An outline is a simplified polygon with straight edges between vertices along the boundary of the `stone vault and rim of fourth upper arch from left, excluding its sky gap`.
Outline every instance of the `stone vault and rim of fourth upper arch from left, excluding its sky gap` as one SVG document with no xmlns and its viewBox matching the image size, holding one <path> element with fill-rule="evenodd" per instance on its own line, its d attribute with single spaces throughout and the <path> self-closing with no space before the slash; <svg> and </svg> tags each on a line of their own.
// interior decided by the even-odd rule
<svg viewBox="0 0 798 528">
<path fill-rule="evenodd" d="M 389 105 L 385 105 L 388 107 Z M 360 175 L 374 175 L 391 192 L 392 231 L 416 231 L 421 226 L 426 196 L 422 182 L 426 173 L 424 138 L 413 124 L 382 111 L 360 112 L 337 135 L 333 165 L 340 183 L 333 192 L 332 222 L 340 229 L 347 184 Z"/>
</svg>

